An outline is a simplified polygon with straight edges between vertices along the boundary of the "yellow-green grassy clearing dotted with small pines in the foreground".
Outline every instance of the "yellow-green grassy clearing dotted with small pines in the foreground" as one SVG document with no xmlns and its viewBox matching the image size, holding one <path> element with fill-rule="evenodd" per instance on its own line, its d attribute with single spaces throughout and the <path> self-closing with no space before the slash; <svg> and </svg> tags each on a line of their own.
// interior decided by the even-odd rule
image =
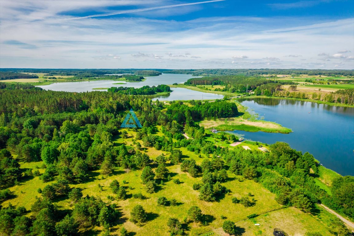
<svg viewBox="0 0 354 236">
<path fill-rule="evenodd" d="M 161 127 L 159 127 L 161 129 Z M 115 140 L 115 145 L 125 143 L 126 145 L 133 145 L 135 132 L 128 130 L 128 138 L 118 138 Z M 162 135 L 159 131 L 157 135 Z M 139 140 L 137 142 L 142 142 Z M 257 151 L 255 144 L 249 144 L 253 151 Z M 241 148 L 238 147 L 238 148 Z M 156 150 L 154 148 L 144 148 L 144 151 L 155 159 L 160 154 L 169 155 L 168 152 Z M 195 154 L 185 148 L 181 148 L 184 158 L 195 159 L 198 164 L 207 158 L 205 155 Z M 21 163 L 21 168 L 25 169 L 39 169 L 41 173 L 44 172 L 42 168 L 43 162 Z M 152 165 L 153 169 L 156 165 Z M 103 201 L 113 202 L 119 206 L 121 217 L 118 224 L 112 229 L 112 235 L 119 235 L 119 230 L 124 226 L 129 232 L 134 232 L 132 235 L 146 236 L 146 235 L 169 235 L 167 220 L 169 217 L 178 218 L 182 221 L 187 217 L 187 211 L 191 206 L 199 206 L 202 213 L 205 214 L 205 225 L 197 223 L 189 223 L 187 234 L 189 235 L 227 235 L 222 230 L 222 224 L 226 217 L 228 220 L 236 222 L 236 226 L 240 227 L 242 235 L 270 235 L 274 228 L 282 228 L 289 235 L 303 235 L 306 231 L 319 231 L 322 235 L 332 235 L 330 229 L 330 219 L 333 216 L 329 213 L 320 211 L 316 215 L 304 213 L 297 208 L 285 208 L 279 205 L 275 200 L 275 195 L 259 183 L 253 180 L 246 180 L 241 176 L 234 175 L 228 172 L 229 179 L 223 185 L 230 190 L 229 194 L 221 197 L 215 202 L 205 202 L 199 200 L 199 192 L 193 190 L 192 185 L 201 180 L 201 176 L 197 178 L 191 177 L 188 173 L 182 172 L 180 165 L 168 165 L 172 179 L 164 183 L 158 192 L 148 194 L 144 190 L 144 185 L 141 182 L 141 170 L 128 171 L 122 168 L 116 168 L 114 173 L 110 176 L 102 175 L 101 172 L 91 172 L 89 181 L 83 184 L 70 185 L 71 187 L 82 189 L 84 196 L 101 197 Z M 178 178 L 181 183 L 173 183 L 173 179 Z M 118 180 L 121 186 L 127 190 L 128 198 L 126 200 L 109 200 L 108 196 L 114 197 L 109 184 L 114 180 Z M 13 186 L 10 190 L 14 197 L 10 200 L 2 202 L 2 206 L 12 204 L 15 206 L 24 206 L 30 210 L 31 205 L 36 197 L 41 197 L 37 189 L 43 189 L 44 186 L 53 182 L 43 183 L 39 177 L 27 179 L 20 185 Z M 102 186 L 102 190 L 99 188 Z M 132 194 L 142 193 L 145 196 L 144 200 L 132 198 Z M 233 197 L 242 197 L 251 193 L 256 200 L 256 205 L 253 207 L 244 207 L 240 203 L 232 203 Z M 157 206 L 158 197 L 165 196 L 168 200 L 176 199 L 177 206 Z M 73 205 L 69 199 L 61 198 L 55 202 L 59 209 L 70 210 Z M 148 212 L 148 221 L 145 225 L 139 227 L 129 221 L 131 209 L 141 204 Z M 259 215 L 253 219 L 247 219 L 247 215 Z M 31 215 L 29 212 L 28 215 Z M 259 226 L 255 226 L 259 223 Z M 100 234 L 102 228 L 96 227 L 91 231 L 92 235 Z"/>
</svg>

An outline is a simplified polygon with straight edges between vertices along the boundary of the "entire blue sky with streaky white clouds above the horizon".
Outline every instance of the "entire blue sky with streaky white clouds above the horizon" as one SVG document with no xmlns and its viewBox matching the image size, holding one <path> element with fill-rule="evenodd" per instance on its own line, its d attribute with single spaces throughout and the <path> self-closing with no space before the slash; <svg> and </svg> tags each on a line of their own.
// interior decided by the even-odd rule
<svg viewBox="0 0 354 236">
<path fill-rule="evenodd" d="M 354 1 L 0 1 L 1 68 L 354 69 Z"/>
</svg>

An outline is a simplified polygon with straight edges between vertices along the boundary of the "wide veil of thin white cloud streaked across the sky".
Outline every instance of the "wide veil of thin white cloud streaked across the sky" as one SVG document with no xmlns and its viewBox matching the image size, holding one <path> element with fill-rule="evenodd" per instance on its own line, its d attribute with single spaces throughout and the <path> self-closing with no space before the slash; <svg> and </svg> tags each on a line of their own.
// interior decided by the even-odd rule
<svg viewBox="0 0 354 236">
<path fill-rule="evenodd" d="M 165 5 L 166 1 L 66 3 L 1 0 L 0 67 L 116 68 L 113 59 L 123 58 L 119 63 L 121 68 L 156 68 L 161 61 L 164 63 L 161 68 L 167 65 L 169 69 L 264 68 L 264 60 L 272 62 L 269 65 L 272 68 L 317 68 L 323 63 L 316 64 L 315 55 L 325 51 L 334 58 L 326 61 L 327 69 L 334 68 L 339 59 L 344 63 L 341 68 L 354 69 L 354 55 L 349 53 L 354 51 L 353 18 L 314 21 L 306 17 L 232 16 L 175 21 L 121 15 L 65 21 L 70 17 L 68 12 L 107 12 L 112 5 L 149 8 Z M 63 12 L 67 15 L 62 15 Z M 4 41 L 17 41 L 21 45 Z M 338 45 L 346 50 L 338 52 Z M 335 53 L 348 54 L 338 57 Z M 326 53 L 321 56 L 330 57 Z M 307 64 L 303 64 L 304 59 Z M 230 63 L 232 60 L 237 63 Z"/>
</svg>

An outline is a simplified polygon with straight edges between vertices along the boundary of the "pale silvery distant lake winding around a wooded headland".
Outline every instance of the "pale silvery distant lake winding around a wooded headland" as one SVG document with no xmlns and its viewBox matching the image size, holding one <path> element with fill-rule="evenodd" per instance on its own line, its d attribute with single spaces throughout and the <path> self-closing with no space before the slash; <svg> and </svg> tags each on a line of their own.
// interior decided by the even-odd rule
<svg viewBox="0 0 354 236">
<path fill-rule="evenodd" d="M 65 91 L 65 92 L 87 92 L 95 91 L 93 88 L 110 88 L 110 87 L 134 87 L 140 88 L 145 85 L 148 86 L 158 86 L 161 84 L 172 85 L 174 83 L 183 84 L 185 81 L 192 77 L 192 75 L 186 74 L 162 74 L 159 76 L 146 76 L 145 81 L 141 82 L 125 82 L 125 81 L 114 81 L 114 80 L 95 80 L 95 81 L 82 81 L 82 82 L 60 82 L 51 85 L 41 85 L 45 90 L 53 91 Z M 124 83 L 121 85 L 114 85 L 115 83 Z M 156 96 L 153 100 L 202 100 L 202 99 L 222 99 L 224 96 L 214 93 L 204 93 L 199 91 L 189 90 L 187 88 L 171 88 L 172 92 L 169 96 Z M 99 90 L 100 91 L 100 90 Z M 101 90 L 106 91 L 106 90 Z"/>
</svg>

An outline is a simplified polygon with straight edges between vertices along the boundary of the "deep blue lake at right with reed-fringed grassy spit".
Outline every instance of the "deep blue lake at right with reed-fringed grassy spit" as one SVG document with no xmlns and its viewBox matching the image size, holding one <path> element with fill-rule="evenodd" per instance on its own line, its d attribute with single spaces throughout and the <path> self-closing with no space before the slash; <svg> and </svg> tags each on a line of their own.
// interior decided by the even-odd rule
<svg viewBox="0 0 354 236">
<path fill-rule="evenodd" d="M 309 152 L 325 167 L 342 175 L 354 175 L 354 108 L 287 99 L 241 100 L 242 105 L 264 120 L 293 130 L 290 134 L 233 131 L 245 139 Z"/>
</svg>

